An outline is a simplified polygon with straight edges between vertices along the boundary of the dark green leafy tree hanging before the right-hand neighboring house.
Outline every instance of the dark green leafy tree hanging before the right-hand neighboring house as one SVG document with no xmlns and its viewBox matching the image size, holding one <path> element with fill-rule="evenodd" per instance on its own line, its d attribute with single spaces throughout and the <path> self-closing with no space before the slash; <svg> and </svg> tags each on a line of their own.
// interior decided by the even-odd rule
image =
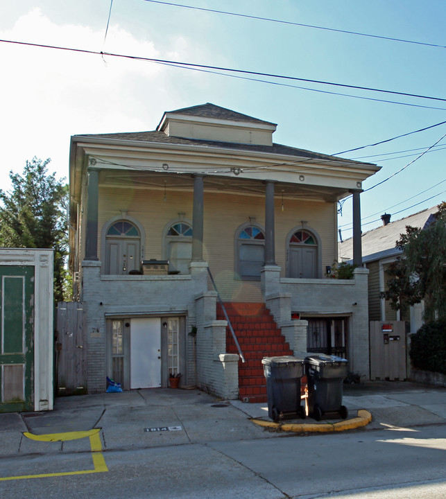
<svg viewBox="0 0 446 499">
<path fill-rule="evenodd" d="M 420 229 L 406 227 L 397 248 L 404 251 L 387 270 L 387 290 L 382 294 L 395 310 L 424 300 L 426 322 L 446 319 L 446 203 L 440 204 L 434 222 Z"/>
</svg>

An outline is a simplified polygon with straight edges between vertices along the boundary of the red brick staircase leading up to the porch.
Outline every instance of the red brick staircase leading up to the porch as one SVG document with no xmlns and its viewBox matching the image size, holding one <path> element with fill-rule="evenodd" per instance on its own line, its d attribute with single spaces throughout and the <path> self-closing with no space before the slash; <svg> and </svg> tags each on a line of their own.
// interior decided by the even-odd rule
<svg viewBox="0 0 446 499">
<path fill-rule="evenodd" d="M 261 359 L 292 356 L 293 351 L 264 304 L 233 301 L 225 302 L 224 306 L 246 360 L 239 360 L 239 398 L 243 402 L 266 402 L 266 379 Z M 217 304 L 216 318 L 225 320 L 220 304 Z M 226 351 L 239 353 L 229 326 L 226 328 Z"/>
</svg>

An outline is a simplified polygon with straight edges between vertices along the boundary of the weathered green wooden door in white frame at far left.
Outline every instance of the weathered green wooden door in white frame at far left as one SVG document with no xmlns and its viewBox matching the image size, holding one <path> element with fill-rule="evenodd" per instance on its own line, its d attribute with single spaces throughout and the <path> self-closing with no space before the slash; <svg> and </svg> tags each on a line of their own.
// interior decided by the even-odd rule
<svg viewBox="0 0 446 499">
<path fill-rule="evenodd" d="M 0 412 L 34 409 L 34 267 L 0 266 Z"/>
</svg>

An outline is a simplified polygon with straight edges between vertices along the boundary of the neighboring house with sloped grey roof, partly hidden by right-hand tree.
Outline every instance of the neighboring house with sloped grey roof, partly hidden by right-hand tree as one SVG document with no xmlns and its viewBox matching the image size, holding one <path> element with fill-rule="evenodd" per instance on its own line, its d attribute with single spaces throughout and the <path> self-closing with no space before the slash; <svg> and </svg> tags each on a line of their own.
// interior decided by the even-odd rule
<svg viewBox="0 0 446 499">
<path fill-rule="evenodd" d="M 390 302 L 381 298 L 381 292 L 386 289 L 388 266 L 402 256 L 400 249 L 395 247 L 400 234 L 406 233 L 406 226 L 428 227 L 434 220 L 434 213 L 438 206 L 419 211 L 413 215 L 391 222 L 391 215 L 384 213 L 381 216 L 383 225 L 377 229 L 364 232 L 361 237 L 363 265 L 370 271 L 368 277 L 368 313 L 370 321 L 395 321 L 406 322 L 407 333 L 416 333 L 422 326 L 423 304 L 417 304 L 401 313 L 393 310 Z M 352 259 L 352 238 L 339 244 L 339 258 L 341 261 Z"/>
</svg>

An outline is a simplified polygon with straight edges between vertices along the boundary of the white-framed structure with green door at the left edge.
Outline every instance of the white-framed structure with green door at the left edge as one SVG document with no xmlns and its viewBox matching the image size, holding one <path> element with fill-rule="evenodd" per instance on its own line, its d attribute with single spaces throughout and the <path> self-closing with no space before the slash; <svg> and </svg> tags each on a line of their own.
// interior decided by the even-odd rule
<svg viewBox="0 0 446 499">
<path fill-rule="evenodd" d="M 0 248 L 0 412 L 53 409 L 53 259 Z"/>
</svg>

